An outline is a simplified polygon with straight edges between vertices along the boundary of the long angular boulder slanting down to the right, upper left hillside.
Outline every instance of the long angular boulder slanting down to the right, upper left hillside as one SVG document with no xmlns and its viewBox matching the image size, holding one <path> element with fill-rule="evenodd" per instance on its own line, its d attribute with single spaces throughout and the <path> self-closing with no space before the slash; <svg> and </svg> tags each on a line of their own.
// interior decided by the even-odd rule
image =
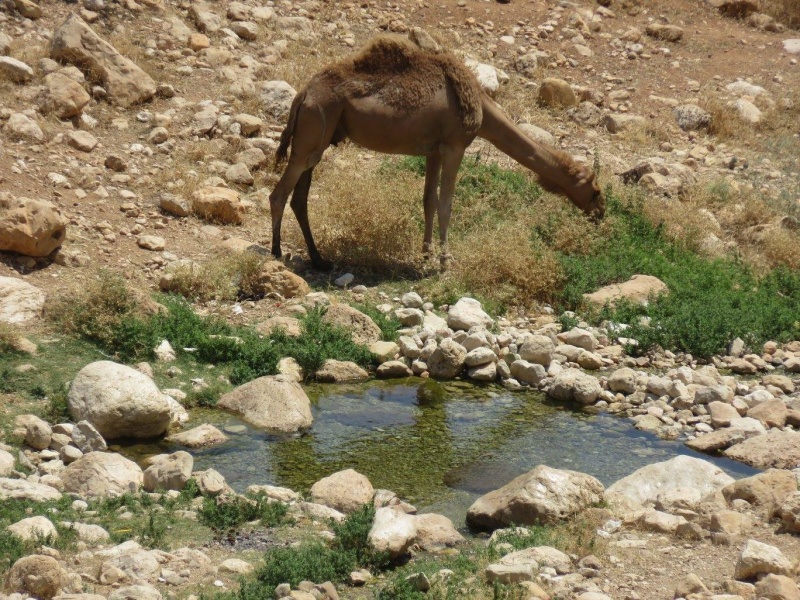
<svg viewBox="0 0 800 600">
<path fill-rule="evenodd" d="M 156 82 L 100 38 L 77 13 L 71 13 L 53 34 L 50 58 L 75 64 L 98 77 L 109 99 L 120 106 L 146 102 L 156 93 Z"/>
</svg>

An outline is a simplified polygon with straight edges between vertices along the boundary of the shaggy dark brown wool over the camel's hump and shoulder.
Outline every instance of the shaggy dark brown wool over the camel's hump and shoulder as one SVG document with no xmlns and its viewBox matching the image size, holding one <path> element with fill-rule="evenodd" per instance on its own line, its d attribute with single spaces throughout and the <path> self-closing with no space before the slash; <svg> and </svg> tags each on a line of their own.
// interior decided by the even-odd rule
<svg viewBox="0 0 800 600">
<path fill-rule="evenodd" d="M 351 58 L 322 73 L 346 98 L 375 96 L 398 111 L 413 112 L 450 85 L 461 119 L 477 132 L 482 119 L 481 88 L 475 75 L 447 51 L 422 50 L 410 40 L 392 35 L 374 38 Z"/>
</svg>

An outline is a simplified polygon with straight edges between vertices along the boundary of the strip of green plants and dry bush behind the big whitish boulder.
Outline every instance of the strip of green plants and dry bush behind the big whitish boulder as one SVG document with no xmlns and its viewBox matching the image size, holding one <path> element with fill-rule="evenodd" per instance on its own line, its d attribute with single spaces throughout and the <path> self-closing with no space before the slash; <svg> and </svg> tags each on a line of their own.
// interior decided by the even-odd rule
<svg viewBox="0 0 800 600">
<path fill-rule="evenodd" d="M 101 274 L 100 285 L 83 298 L 55 311 L 56 319 L 70 332 L 96 344 L 104 353 L 125 362 L 152 360 L 154 349 L 168 340 L 179 358 L 222 367 L 233 385 L 277 373 L 278 361 L 294 357 L 308 379 L 328 358 L 351 360 L 362 366 L 372 355 L 350 338 L 343 328 L 325 323 L 324 307 L 301 317 L 301 335 L 292 338 L 277 331 L 268 337 L 254 329 L 234 327 L 214 316 L 200 316 L 181 296 L 158 296 L 160 308 L 143 310 L 143 302 L 132 300 L 121 277 Z M 219 385 L 196 393 L 191 403 L 213 406 L 224 391 Z"/>
</svg>

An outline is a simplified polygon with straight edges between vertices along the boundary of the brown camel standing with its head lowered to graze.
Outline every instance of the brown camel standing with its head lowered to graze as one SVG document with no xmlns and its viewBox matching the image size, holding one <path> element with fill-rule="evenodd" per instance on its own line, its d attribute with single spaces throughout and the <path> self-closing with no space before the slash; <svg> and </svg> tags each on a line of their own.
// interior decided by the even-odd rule
<svg viewBox="0 0 800 600">
<path fill-rule="evenodd" d="M 382 35 L 317 73 L 294 98 L 275 156 L 277 169 L 291 146 L 286 170 L 270 194 L 272 254 L 281 257 L 281 221 L 291 194 L 314 268 L 331 269 L 311 234 L 308 192 L 323 152 L 349 138 L 368 150 L 425 157 L 423 252 L 432 251 L 438 216 L 444 263 L 458 168 L 475 137 L 533 171 L 545 189 L 567 196 L 594 219 L 603 217 L 605 200 L 594 173 L 528 138 L 456 56 Z"/>
</svg>

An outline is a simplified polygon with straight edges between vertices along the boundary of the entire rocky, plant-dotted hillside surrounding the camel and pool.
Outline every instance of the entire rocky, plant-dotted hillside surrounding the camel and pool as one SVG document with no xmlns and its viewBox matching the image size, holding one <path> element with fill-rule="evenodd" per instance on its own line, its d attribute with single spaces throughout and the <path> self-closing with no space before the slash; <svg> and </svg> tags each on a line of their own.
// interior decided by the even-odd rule
<svg viewBox="0 0 800 600">
<path fill-rule="evenodd" d="M 6 0 L 4 592 L 800 598 L 799 21 L 767 0 Z M 343 144 L 310 195 L 333 272 L 290 216 L 270 260 L 296 90 L 385 32 L 450 48 L 591 166 L 606 219 L 477 141 L 442 272 L 422 164 Z M 765 471 L 679 457 L 606 489 L 539 466 L 454 524 L 352 470 L 247 497 L 194 470 L 225 442 L 180 431 L 195 409 L 295 434 L 303 381 L 373 376 L 541 391 Z M 113 451 L 164 435 L 187 451 Z"/>
</svg>

